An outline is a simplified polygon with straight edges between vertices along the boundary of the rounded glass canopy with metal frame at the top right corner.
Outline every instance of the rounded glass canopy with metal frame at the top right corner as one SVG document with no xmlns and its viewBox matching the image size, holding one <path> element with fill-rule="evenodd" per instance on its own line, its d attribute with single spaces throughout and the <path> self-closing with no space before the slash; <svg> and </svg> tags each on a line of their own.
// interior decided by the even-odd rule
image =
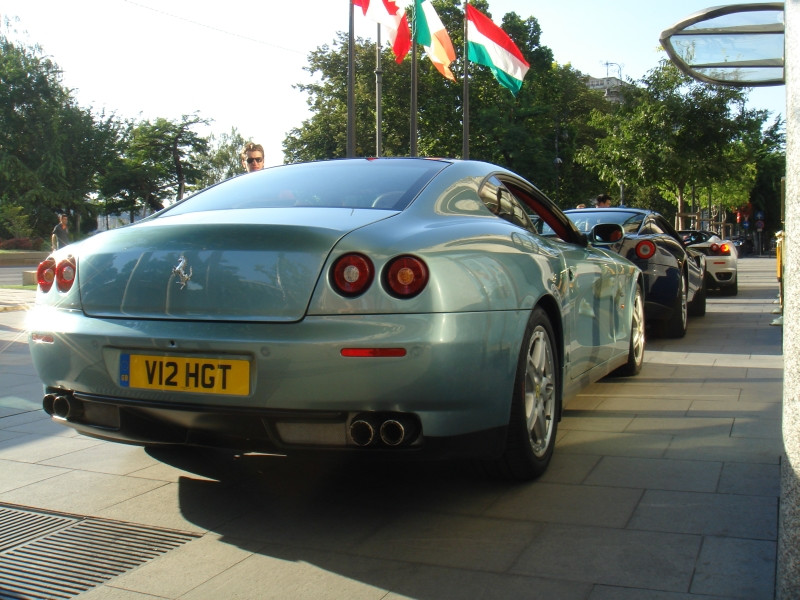
<svg viewBox="0 0 800 600">
<path fill-rule="evenodd" d="M 682 72 L 734 87 L 784 83 L 783 2 L 708 8 L 661 32 L 660 42 Z"/>
</svg>

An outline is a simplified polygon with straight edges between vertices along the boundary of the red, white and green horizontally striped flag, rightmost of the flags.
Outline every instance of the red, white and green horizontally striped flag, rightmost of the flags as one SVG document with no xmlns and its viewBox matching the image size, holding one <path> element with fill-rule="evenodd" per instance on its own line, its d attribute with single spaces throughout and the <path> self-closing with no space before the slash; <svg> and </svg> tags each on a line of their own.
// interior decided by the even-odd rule
<svg viewBox="0 0 800 600">
<path fill-rule="evenodd" d="M 500 85 L 515 96 L 530 68 L 508 34 L 471 4 L 467 4 L 467 57 L 489 67 Z"/>
</svg>

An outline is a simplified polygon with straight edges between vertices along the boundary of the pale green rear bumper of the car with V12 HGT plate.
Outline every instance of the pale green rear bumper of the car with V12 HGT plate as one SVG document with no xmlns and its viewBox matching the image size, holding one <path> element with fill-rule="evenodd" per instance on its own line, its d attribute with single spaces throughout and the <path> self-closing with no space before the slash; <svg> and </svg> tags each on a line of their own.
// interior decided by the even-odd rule
<svg viewBox="0 0 800 600">
<path fill-rule="evenodd" d="M 476 445 L 479 454 L 494 449 L 508 424 L 528 318 L 527 311 L 493 311 L 193 327 L 39 308 L 30 315 L 30 350 L 45 393 L 80 407 L 54 418 L 87 435 L 264 451 L 428 452 L 458 447 L 474 434 L 488 440 Z M 405 355 L 344 357 L 343 347 L 404 348 Z M 249 393 L 126 387 L 120 382 L 121 357 L 133 352 L 244 357 L 250 364 Z M 377 442 L 361 447 L 350 433 L 360 415 L 375 421 L 376 439 L 387 420 L 418 431 L 398 448 Z"/>
</svg>

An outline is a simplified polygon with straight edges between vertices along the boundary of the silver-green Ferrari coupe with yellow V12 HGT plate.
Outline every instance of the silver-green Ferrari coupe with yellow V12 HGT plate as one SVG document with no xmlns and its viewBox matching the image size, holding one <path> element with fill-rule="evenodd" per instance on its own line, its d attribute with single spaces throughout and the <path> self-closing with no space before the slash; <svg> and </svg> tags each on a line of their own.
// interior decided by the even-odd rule
<svg viewBox="0 0 800 600">
<path fill-rule="evenodd" d="M 39 265 L 43 407 L 118 442 L 530 479 L 569 398 L 642 365 L 642 274 L 593 235 L 476 161 L 234 177 Z"/>
</svg>

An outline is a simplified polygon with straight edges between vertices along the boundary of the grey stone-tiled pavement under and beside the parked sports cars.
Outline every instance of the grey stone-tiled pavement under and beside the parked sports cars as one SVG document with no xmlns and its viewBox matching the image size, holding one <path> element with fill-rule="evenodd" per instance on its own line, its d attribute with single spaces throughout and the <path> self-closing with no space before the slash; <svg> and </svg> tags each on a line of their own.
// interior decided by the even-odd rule
<svg viewBox="0 0 800 600">
<path fill-rule="evenodd" d="M 739 295 L 709 296 L 682 340 L 649 339 L 637 377 L 570 404 L 525 484 L 83 437 L 40 408 L 24 314 L 0 314 L 0 516 L 47 526 L 4 546 L 0 519 L 0 589 L 20 569 L 54 586 L 104 568 L 81 600 L 772 600 L 778 288 L 774 259 L 739 269 Z M 117 563 L 140 537 L 149 550 Z"/>
</svg>

